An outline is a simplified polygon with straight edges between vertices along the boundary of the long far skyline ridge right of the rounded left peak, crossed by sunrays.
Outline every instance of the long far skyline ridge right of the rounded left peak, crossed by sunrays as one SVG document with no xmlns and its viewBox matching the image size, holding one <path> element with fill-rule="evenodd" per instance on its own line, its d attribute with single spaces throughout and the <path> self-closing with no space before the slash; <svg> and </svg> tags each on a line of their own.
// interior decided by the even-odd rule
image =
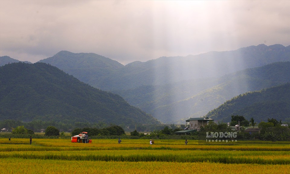
<svg viewBox="0 0 290 174">
<path fill-rule="evenodd" d="M 217 78 L 278 61 L 290 61 L 290 46 L 261 44 L 234 51 L 213 51 L 186 57 L 160 57 L 147 62 L 128 64 L 125 68 L 118 69 L 113 76 L 106 78 L 108 88 L 104 90 L 126 90 L 142 85 L 164 85 L 189 79 Z"/>
</svg>

